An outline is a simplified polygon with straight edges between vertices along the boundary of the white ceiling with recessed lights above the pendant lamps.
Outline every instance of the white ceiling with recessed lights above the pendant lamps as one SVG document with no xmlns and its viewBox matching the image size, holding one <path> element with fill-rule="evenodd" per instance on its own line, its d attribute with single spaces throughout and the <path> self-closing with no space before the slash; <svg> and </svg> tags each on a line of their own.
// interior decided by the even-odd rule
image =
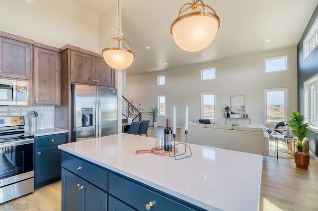
<svg viewBox="0 0 318 211">
<path fill-rule="evenodd" d="M 98 14 L 117 5 L 117 0 L 73 1 Z M 296 46 L 318 4 L 318 0 L 203 0 L 217 12 L 220 28 L 210 46 L 189 53 L 174 43 L 170 26 L 181 6 L 191 1 L 120 0 L 123 38 L 136 55 L 126 76 Z"/>
</svg>

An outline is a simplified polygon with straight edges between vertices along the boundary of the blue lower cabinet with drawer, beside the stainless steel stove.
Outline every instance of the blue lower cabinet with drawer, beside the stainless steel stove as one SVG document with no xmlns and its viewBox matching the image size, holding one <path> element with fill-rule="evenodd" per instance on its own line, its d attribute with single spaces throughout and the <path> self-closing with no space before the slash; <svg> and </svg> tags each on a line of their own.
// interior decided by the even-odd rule
<svg viewBox="0 0 318 211">
<path fill-rule="evenodd" d="M 59 144 L 67 143 L 67 134 L 34 137 L 34 188 L 40 188 L 61 179 L 62 152 Z"/>
</svg>

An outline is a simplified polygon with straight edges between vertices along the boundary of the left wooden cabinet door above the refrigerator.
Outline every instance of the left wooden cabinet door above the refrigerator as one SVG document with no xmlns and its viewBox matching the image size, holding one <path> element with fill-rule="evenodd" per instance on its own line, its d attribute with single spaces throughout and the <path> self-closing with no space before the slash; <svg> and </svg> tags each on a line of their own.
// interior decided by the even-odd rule
<svg viewBox="0 0 318 211">
<path fill-rule="evenodd" d="M 93 84 L 94 56 L 71 50 L 71 82 Z"/>
</svg>

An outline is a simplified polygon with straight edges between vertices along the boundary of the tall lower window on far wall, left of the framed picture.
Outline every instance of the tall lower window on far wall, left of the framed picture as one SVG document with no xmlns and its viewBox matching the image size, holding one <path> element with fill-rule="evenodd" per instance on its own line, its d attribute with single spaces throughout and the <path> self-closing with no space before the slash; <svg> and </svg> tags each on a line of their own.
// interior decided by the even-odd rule
<svg viewBox="0 0 318 211">
<path fill-rule="evenodd" d="M 215 93 L 201 94 L 201 119 L 215 120 Z"/>
</svg>

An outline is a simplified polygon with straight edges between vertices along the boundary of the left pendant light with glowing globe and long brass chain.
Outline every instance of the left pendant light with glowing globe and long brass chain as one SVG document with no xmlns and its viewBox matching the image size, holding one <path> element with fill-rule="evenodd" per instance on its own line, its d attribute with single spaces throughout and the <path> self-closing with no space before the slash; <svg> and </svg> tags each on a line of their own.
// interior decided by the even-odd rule
<svg viewBox="0 0 318 211">
<path fill-rule="evenodd" d="M 106 63 L 117 70 L 126 69 L 129 67 L 135 58 L 135 53 L 131 51 L 132 47 L 130 43 L 121 38 L 119 29 L 120 29 L 120 16 L 119 16 L 119 0 L 118 0 L 118 34 L 117 38 L 111 38 L 107 41 L 105 49 L 102 50 L 103 57 L 106 61 Z M 116 47 L 111 48 L 110 46 L 112 44 L 117 44 Z M 122 44 L 126 48 L 122 48 Z"/>
</svg>

